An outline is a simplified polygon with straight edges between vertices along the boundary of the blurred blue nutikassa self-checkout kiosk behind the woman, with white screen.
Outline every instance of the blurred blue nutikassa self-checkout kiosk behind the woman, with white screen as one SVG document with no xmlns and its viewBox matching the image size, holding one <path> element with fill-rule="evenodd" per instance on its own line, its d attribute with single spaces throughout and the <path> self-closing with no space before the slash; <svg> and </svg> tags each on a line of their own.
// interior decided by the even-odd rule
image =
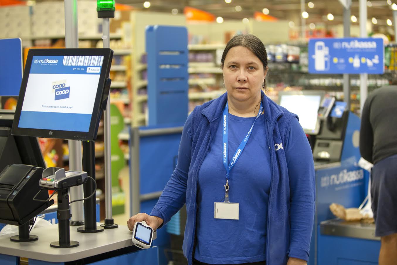
<svg viewBox="0 0 397 265">
<path fill-rule="evenodd" d="M 308 264 L 376 264 L 374 226 L 344 223 L 329 208 L 357 208 L 366 197 L 368 172 L 358 166 L 360 118 L 324 91 L 283 91 L 279 104 L 299 116 L 313 151 L 316 213 Z"/>
</svg>

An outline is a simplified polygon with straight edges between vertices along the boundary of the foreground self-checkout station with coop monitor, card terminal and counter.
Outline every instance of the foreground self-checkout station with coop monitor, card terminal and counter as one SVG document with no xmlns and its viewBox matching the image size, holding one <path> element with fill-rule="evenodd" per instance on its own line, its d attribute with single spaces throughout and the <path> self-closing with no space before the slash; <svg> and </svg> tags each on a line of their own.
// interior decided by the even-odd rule
<svg viewBox="0 0 397 265">
<path fill-rule="evenodd" d="M 20 257 L 33 265 L 158 263 L 156 232 L 145 223 L 134 232 L 97 223 L 94 140 L 106 111 L 112 56 L 109 48 L 29 51 L 16 110 L 0 112 L 0 222 L 18 226 L 0 236 L 0 264 L 20 264 Z M 84 171 L 45 168 L 36 137 L 83 141 Z M 85 222 L 70 226 L 68 190 L 80 185 Z M 32 230 L 54 203 L 48 190 L 58 196 L 58 223 Z"/>
</svg>

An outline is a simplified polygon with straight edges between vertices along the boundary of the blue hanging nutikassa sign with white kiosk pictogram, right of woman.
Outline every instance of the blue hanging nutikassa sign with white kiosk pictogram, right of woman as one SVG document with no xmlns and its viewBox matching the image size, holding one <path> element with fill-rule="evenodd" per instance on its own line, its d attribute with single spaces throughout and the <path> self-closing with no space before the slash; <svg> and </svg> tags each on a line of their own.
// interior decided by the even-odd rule
<svg viewBox="0 0 397 265">
<path fill-rule="evenodd" d="M 383 39 L 309 40 L 310 74 L 383 74 Z"/>
</svg>

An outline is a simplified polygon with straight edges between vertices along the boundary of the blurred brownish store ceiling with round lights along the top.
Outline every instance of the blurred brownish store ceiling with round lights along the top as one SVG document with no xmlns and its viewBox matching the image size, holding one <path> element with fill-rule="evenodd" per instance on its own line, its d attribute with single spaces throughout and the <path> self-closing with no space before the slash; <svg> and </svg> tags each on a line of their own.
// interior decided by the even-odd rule
<svg viewBox="0 0 397 265">
<path fill-rule="evenodd" d="M 128 4 L 137 9 L 146 9 L 151 11 L 171 12 L 173 8 L 177 8 L 179 12 L 183 12 L 185 6 L 198 8 L 214 14 L 216 17 L 221 16 L 224 19 L 243 19 L 244 17 L 253 17 L 255 11 L 262 12 L 263 8 L 268 8 L 270 13 L 278 19 L 295 20 L 300 19 L 301 1 L 300 0 L 231 0 L 230 4 L 224 0 L 148 0 L 150 8 L 143 8 L 143 0 L 118 0 L 120 4 Z M 306 12 L 309 17 L 307 23 L 341 23 L 343 20 L 343 6 L 339 0 L 311 0 L 305 1 Z M 312 2 L 314 8 L 309 8 L 307 3 Z M 392 2 L 397 2 L 392 0 Z M 235 6 L 241 6 L 241 11 L 237 12 Z M 367 8 L 368 18 L 376 17 L 378 21 L 386 21 L 387 18 L 392 19 L 392 11 L 386 0 L 370 1 L 370 7 Z M 331 13 L 334 15 L 333 21 L 328 21 L 326 15 Z M 357 18 L 358 0 L 352 1 L 351 14 Z"/>
</svg>

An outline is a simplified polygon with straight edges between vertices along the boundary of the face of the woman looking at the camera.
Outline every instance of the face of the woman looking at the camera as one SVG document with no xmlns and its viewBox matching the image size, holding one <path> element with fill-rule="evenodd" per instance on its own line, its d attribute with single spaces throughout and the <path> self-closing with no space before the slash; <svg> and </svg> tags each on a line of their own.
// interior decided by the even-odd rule
<svg viewBox="0 0 397 265">
<path fill-rule="evenodd" d="M 267 69 L 251 50 L 243 46 L 231 48 L 223 67 L 227 96 L 237 101 L 260 97 L 266 73 Z"/>
</svg>

